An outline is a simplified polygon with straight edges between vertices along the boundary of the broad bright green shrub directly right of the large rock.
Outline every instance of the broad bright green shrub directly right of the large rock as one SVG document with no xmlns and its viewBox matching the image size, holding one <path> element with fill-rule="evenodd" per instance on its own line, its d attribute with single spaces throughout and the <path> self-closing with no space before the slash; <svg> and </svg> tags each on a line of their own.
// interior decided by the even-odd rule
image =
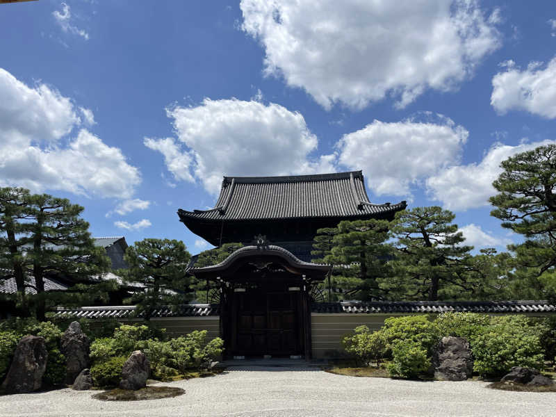
<svg viewBox="0 0 556 417">
<path fill-rule="evenodd" d="M 512 366 L 543 368 L 541 336 L 545 328 L 525 316 L 491 319 L 486 332 L 473 343 L 473 370 L 482 376 L 499 376 Z"/>
</svg>

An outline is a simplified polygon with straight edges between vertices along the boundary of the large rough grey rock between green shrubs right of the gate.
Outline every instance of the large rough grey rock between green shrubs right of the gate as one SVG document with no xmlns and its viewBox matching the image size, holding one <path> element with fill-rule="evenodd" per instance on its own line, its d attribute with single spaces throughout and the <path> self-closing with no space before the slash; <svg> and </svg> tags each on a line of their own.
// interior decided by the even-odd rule
<svg viewBox="0 0 556 417">
<path fill-rule="evenodd" d="M 468 341 L 446 336 L 439 341 L 432 355 L 434 377 L 442 381 L 464 381 L 473 374 L 473 357 Z"/>
</svg>

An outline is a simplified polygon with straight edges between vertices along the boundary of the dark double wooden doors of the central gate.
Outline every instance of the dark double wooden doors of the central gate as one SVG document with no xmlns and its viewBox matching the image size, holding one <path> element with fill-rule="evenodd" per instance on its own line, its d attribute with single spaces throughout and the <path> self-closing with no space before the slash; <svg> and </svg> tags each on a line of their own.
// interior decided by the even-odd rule
<svg viewBox="0 0 556 417">
<path fill-rule="evenodd" d="M 300 292 L 247 290 L 234 293 L 232 350 L 246 356 L 302 353 Z"/>
</svg>

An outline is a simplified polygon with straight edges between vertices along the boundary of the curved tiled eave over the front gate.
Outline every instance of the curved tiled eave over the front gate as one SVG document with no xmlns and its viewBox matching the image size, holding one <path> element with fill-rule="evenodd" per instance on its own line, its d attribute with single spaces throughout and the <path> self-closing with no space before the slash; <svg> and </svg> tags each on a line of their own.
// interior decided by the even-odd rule
<svg viewBox="0 0 556 417">
<path fill-rule="evenodd" d="M 217 263 L 215 265 L 205 266 L 203 268 L 191 268 L 189 272 L 194 275 L 204 275 L 206 273 L 222 272 L 227 270 L 234 262 L 240 259 L 245 259 L 249 257 L 265 257 L 265 256 L 277 256 L 280 259 L 286 261 L 288 265 L 293 268 L 300 270 L 311 270 L 318 271 L 322 273 L 327 273 L 330 270 L 330 265 L 324 265 L 321 263 L 309 263 L 298 259 L 297 256 L 285 250 L 283 247 L 269 245 L 267 247 L 259 249 L 256 246 L 244 246 L 236 250 L 233 254 L 229 255 L 224 261 Z"/>
</svg>

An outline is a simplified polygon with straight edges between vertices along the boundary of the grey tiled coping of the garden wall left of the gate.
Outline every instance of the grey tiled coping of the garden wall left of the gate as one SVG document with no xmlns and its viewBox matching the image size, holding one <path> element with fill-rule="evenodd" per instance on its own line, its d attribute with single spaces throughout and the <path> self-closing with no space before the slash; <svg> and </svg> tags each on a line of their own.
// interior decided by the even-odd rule
<svg viewBox="0 0 556 417">
<path fill-rule="evenodd" d="M 99 306 L 78 309 L 56 309 L 56 316 L 67 318 L 131 318 L 136 306 Z M 156 309 L 151 317 L 203 317 L 218 316 L 218 304 L 183 304 L 176 309 L 164 306 Z M 138 317 L 142 315 L 139 314 Z"/>
</svg>

